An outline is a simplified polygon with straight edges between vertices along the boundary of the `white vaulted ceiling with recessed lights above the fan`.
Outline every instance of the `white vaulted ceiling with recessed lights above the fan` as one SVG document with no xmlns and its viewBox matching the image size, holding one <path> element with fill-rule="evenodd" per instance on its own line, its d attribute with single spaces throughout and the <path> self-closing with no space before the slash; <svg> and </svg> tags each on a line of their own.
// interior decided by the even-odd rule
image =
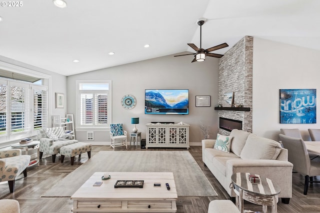
<svg viewBox="0 0 320 213">
<path fill-rule="evenodd" d="M 201 17 L 202 48 L 229 45 L 213 53 L 245 35 L 320 50 L 318 0 L 65 1 L 65 8 L 52 0 L 0 6 L 0 55 L 68 76 L 194 52 L 187 43 L 199 47 Z"/>
</svg>

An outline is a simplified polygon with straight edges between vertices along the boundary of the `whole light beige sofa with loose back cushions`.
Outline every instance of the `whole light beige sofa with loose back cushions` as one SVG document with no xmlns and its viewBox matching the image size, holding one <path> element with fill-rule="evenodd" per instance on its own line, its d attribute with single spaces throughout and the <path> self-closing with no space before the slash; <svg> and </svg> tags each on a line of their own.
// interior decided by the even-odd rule
<svg viewBox="0 0 320 213">
<path fill-rule="evenodd" d="M 293 167 L 288 162 L 288 151 L 276 141 L 241 130 L 232 130 L 229 137 L 232 137 L 229 153 L 213 149 L 216 140 L 202 140 L 202 161 L 229 196 L 235 197 L 229 188 L 231 175 L 246 172 L 272 180 L 281 189 L 282 203 L 288 204 L 292 197 Z"/>
</svg>

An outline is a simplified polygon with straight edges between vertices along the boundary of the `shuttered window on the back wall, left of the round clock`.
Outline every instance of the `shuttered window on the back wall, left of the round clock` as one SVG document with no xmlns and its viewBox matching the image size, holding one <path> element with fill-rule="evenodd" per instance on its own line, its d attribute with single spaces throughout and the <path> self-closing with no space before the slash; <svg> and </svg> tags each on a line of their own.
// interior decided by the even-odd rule
<svg viewBox="0 0 320 213">
<path fill-rule="evenodd" d="M 77 81 L 80 127 L 107 127 L 110 122 L 111 81 Z"/>
</svg>

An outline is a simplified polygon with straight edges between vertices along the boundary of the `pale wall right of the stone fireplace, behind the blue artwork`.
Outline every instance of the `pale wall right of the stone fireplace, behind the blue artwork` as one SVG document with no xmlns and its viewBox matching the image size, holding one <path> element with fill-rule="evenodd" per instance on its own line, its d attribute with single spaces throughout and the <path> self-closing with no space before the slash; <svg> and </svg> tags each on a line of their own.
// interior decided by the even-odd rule
<svg viewBox="0 0 320 213">
<path fill-rule="evenodd" d="M 318 119 L 316 124 L 279 123 L 279 89 L 316 89 L 319 96 L 319 58 L 317 50 L 253 38 L 253 133 L 278 140 L 280 128 L 298 128 L 309 140 L 307 129 L 320 129 Z M 317 107 L 317 117 L 319 112 Z"/>
</svg>

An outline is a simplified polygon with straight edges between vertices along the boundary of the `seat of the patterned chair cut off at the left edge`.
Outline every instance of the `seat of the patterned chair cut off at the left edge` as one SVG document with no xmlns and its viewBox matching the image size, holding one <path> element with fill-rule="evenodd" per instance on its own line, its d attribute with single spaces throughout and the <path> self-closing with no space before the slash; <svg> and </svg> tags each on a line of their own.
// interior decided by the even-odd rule
<svg viewBox="0 0 320 213">
<path fill-rule="evenodd" d="M 19 155 L 9 158 L 2 158 L 0 161 L 5 163 L 2 168 L 1 181 L 13 181 L 16 176 L 20 175 L 30 163 L 29 155 Z"/>
</svg>

